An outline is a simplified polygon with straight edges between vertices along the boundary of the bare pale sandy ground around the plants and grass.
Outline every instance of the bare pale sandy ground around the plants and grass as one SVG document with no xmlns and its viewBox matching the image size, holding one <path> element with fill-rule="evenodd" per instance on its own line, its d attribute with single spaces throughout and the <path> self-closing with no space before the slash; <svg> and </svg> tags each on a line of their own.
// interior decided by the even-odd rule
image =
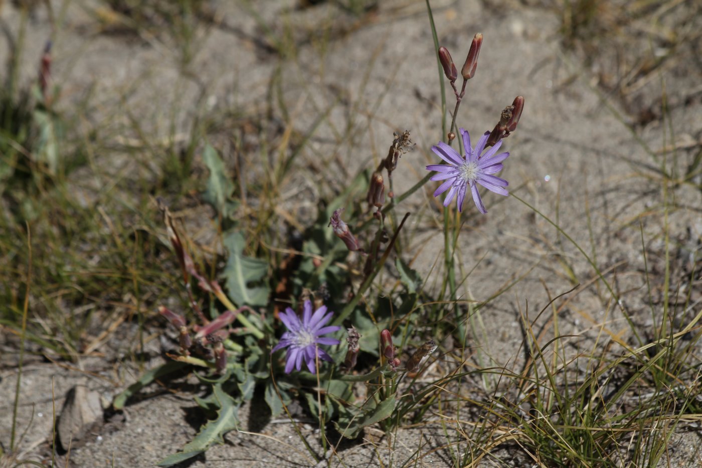
<svg viewBox="0 0 702 468">
<path fill-rule="evenodd" d="M 350 141 L 338 154 L 338 160 L 350 174 L 375 165 L 384 156 L 392 131 L 410 129 L 417 143 L 416 150 L 404 157 L 395 175 L 395 190 L 402 193 L 423 176 L 423 167 L 435 158 L 430 146 L 441 134 L 437 70 L 433 43 L 425 6 L 420 1 L 388 1 L 372 13 L 372 17 L 356 24 L 350 15 L 322 5 L 287 13 L 294 31 L 309 30 L 319 18 L 339 15 L 341 31 L 327 45 L 324 58 L 314 41 L 300 39 L 298 56 L 282 64 L 270 60 L 270 52 L 260 46 L 260 30 L 251 15 L 236 4 L 223 2 L 216 8 L 219 25 L 202 25 L 197 30 L 191 72 L 180 72 L 177 44 L 159 39 L 138 40 L 128 35 L 101 34 L 95 16 L 89 13 L 94 4 L 72 4 L 67 24 L 55 41 L 55 67 L 67 100 L 80 100 L 90 86 L 95 96 L 93 118 L 117 124 L 124 112 L 139 115 L 143 124 L 154 133 L 164 135 L 168 112 L 173 108 L 194 109 L 198 105 L 231 106 L 256 112 L 267 99 L 268 84 L 274 73 L 282 80 L 283 98 L 296 112 L 296 124 L 304 131 L 319 112 L 333 105 L 330 122 L 324 125 L 311 143 L 315 152 L 338 151 L 336 131 L 352 126 Z M 263 20 L 277 24 L 275 18 L 290 11 L 291 1 L 271 2 L 260 11 Z M 640 214 L 655 212 L 661 207 L 661 191 L 657 189 L 656 166 L 651 155 L 633 138 L 625 122 L 636 118 L 626 103 L 601 98 L 603 91 L 595 77 L 597 67 L 585 65 L 578 53 L 564 52 L 559 42 L 559 20 L 548 8 L 524 6 L 509 1 L 497 4 L 477 2 L 432 2 L 439 41 L 462 61 L 475 32 L 484 34 L 484 46 L 475 79 L 468 86 L 458 124 L 473 135 L 492 128 L 501 108 L 517 95 L 526 99 L 526 110 L 518 131 L 505 141 L 510 158 L 502 176 L 510 181 L 512 192 L 533 204 L 546 216 L 558 219 L 559 225 L 589 253 L 591 242 L 597 262 L 608 278 L 616 271 L 622 274 L 617 284 L 623 294 L 624 307 L 633 313 L 642 327 L 653 325 L 650 315 L 639 315 L 647 301 L 640 275 Z M 17 12 L 11 5 L 1 10 L 6 25 L 13 29 Z M 32 20 L 28 34 L 27 56 L 37 57 L 48 37 L 48 21 L 42 10 Z M 6 51 L 6 49 L 0 49 Z M 4 61 L 4 58 L 0 57 Z M 607 65 L 602 60 L 597 66 Z M 674 70 L 675 71 L 675 70 Z M 27 61 L 27 76 L 35 72 Z M 699 148 L 702 128 L 700 90 L 689 73 L 663 72 L 665 89 L 671 106 L 668 121 L 652 119 L 639 126 L 642 141 L 658 157 L 670 146 L 666 126 L 675 129 L 680 155 L 689 155 L 689 148 Z M 634 100 L 645 108 L 661 96 L 661 77 L 641 84 L 642 97 Z M 696 87 L 695 87 L 696 86 Z M 204 96 L 204 98 L 201 98 Z M 124 99 L 123 99 L 124 98 Z M 201 98 L 200 100 L 198 100 Z M 339 99 L 340 98 L 340 99 Z M 451 101 L 449 101 L 451 102 Z M 609 108 L 614 107 L 614 112 Z M 452 107 L 452 106 L 451 106 Z M 353 110 L 354 112 L 351 112 Z M 192 112 L 180 112 L 178 129 L 187 131 Z M 672 123 L 671 123 L 672 122 Z M 124 136 L 129 138 L 129 136 Z M 686 149 L 685 145 L 689 144 Z M 695 146 L 696 145 L 696 146 Z M 698 149 L 697 149 L 698 150 Z M 313 159 L 308 152 L 305 158 Z M 330 168 L 331 169 L 331 168 Z M 336 174 L 339 168 L 333 168 Z M 343 179 L 343 177 L 342 177 Z M 324 183 L 339 183 L 338 178 L 319 171 L 310 177 L 289 181 L 289 202 L 299 202 L 295 194 L 329 193 L 319 188 Z M 300 184 L 303 184 L 300 186 Z M 298 190 L 293 190 L 297 188 Z M 306 190 L 306 191 L 305 191 Z M 302 196 L 302 195 L 300 195 Z M 568 240 L 546 221 L 513 197 L 485 197 L 489 214 L 468 212 L 468 221 L 461 235 L 461 262 L 466 271 L 482 258 L 478 268 L 461 290 L 463 297 L 484 300 L 514 278 L 524 276 L 509 292 L 492 301 L 483 310 L 488 342 L 475 342 L 495 363 L 514 363 L 521 359 L 522 334 L 519 313 L 529 316 L 548 303 L 551 296 L 565 292 L 574 282 L 555 261 L 562 258 L 571 266 L 581 285 L 576 299 L 562 313 L 561 332 L 580 335 L 571 340 L 574 349 L 586 349 L 597 330 L 593 325 L 606 322 L 614 332 L 625 330 L 620 308 L 607 306 L 596 279 L 583 256 Z M 428 201 L 421 191 L 408 200 L 409 206 Z M 675 190 L 675 202 L 682 207 L 670 213 L 671 233 L 680 245 L 702 235 L 701 194 L 682 186 Z M 467 202 L 468 203 L 468 202 Z M 588 220 L 589 210 L 589 220 Z M 433 236 L 439 232 L 439 212 L 431 218 L 410 219 L 418 256 L 414 266 L 427 272 L 434 264 L 437 248 Z M 590 238 L 590 230 L 592 232 Z M 651 249 L 661 252 L 658 216 L 643 216 L 644 233 L 651 239 Z M 440 239 L 440 238 L 439 238 Z M 657 242 L 657 244 L 656 244 Z M 429 247 L 422 247 L 429 245 Z M 682 255 L 682 254 L 681 254 Z M 650 259 L 654 262 L 656 259 Z M 617 270 L 618 268 L 618 270 Z M 679 280 L 680 278 L 675 278 Z M 661 285 L 654 285 L 660 288 Z M 547 292 L 548 289 L 548 292 Z M 647 314 L 649 314 L 647 312 Z M 626 337 L 624 337 L 626 338 Z M 161 349 L 152 342 L 157 356 Z M 107 345 L 106 345 L 107 346 Z M 116 346 L 119 346 L 116 345 Z M 98 350 L 99 351 L 99 350 Z M 154 360 L 154 364 L 157 363 Z M 46 460 L 51 440 L 53 415 L 63 404 L 65 394 L 76 382 L 98 391 L 105 401 L 132 382 L 134 373 L 105 368 L 99 361 L 79 365 L 90 373 L 67 367 L 34 362 L 27 364 L 20 391 L 19 429 L 27 430 L 22 447 Z M 7 446 L 11 422 L 11 397 L 15 394 L 15 368 L 0 370 L 0 440 Z M 137 372 L 131 370 L 131 372 Z M 123 422 L 97 429 L 70 455 L 71 466 L 77 467 L 147 467 L 183 446 L 201 423 L 187 394 L 158 394 L 125 410 Z M 208 450 L 189 467 L 293 467 L 310 466 L 298 436 L 289 422 L 270 422 L 256 427 L 249 418 L 250 408 L 243 408 L 246 421 L 242 430 L 259 434 L 233 432 L 226 443 Z M 314 424 L 301 422 L 303 434 L 310 443 L 318 444 Z M 372 435 L 372 434 L 371 434 Z M 442 439 L 442 427 L 427 424 L 422 429 L 401 429 L 388 440 L 368 440 L 340 447 L 339 455 L 331 455 L 332 466 L 374 467 L 383 463 L 403 466 L 451 466 L 449 449 Z M 373 439 L 373 440 L 371 440 Z M 700 436 L 684 432 L 674 438 L 671 466 L 696 466 L 701 455 L 696 449 Z M 318 448 L 318 446 L 315 446 Z M 43 455 L 42 455 L 43 454 Z M 501 455 L 503 464 L 509 455 Z M 677 463 L 677 464 L 675 464 Z M 497 466 L 486 459 L 485 466 Z M 322 462 L 319 466 L 326 466 Z"/>
</svg>

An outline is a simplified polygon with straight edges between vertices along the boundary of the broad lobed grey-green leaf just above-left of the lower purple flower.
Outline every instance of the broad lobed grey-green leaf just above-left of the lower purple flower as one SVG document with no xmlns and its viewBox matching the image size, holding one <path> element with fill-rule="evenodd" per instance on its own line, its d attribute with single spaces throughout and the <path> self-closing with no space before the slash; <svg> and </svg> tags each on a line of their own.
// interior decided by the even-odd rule
<svg viewBox="0 0 702 468">
<path fill-rule="evenodd" d="M 227 290 L 234 304 L 238 306 L 268 304 L 270 288 L 267 285 L 249 286 L 250 283 L 261 282 L 266 277 L 267 262 L 244 256 L 246 240 L 241 233 L 229 233 L 224 239 L 224 245 L 229 250 L 229 259 L 227 259 L 223 276 L 227 278 Z"/>
</svg>

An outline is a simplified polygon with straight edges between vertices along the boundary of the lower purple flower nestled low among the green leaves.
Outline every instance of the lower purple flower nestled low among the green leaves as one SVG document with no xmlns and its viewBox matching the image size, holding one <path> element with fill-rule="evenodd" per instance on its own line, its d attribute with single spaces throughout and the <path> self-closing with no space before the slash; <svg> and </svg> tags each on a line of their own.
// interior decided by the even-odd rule
<svg viewBox="0 0 702 468">
<path fill-rule="evenodd" d="M 333 316 L 333 312 L 326 313 L 326 306 L 318 308 L 313 315 L 312 302 L 310 301 L 305 301 L 302 320 L 289 307 L 280 314 L 280 320 L 283 321 L 288 331 L 283 334 L 280 342 L 270 352 L 274 353 L 279 349 L 288 348 L 288 354 L 285 356 L 286 374 L 292 372 L 293 367 L 300 370 L 303 360 L 307 363 L 307 369 L 312 374 L 316 371 L 317 357 L 321 360 L 331 361 L 329 354 L 324 349 L 319 348 L 320 344 L 339 344 L 338 339 L 322 337 L 323 334 L 336 332 L 340 329 L 336 325 L 324 326 L 325 323 L 329 322 L 331 316 Z"/>
</svg>

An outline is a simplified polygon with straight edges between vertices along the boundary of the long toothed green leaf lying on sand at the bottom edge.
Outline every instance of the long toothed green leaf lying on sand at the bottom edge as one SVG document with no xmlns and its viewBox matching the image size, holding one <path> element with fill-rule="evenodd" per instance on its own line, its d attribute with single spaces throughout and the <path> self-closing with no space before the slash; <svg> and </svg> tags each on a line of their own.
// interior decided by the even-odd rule
<svg viewBox="0 0 702 468">
<path fill-rule="evenodd" d="M 229 431 L 237 429 L 239 420 L 237 418 L 237 401 L 227 394 L 222 389 L 221 384 L 213 386 L 214 394 L 220 404 L 220 410 L 217 412 L 217 419 L 208 421 L 195 436 L 192 441 L 183 446 L 183 450 L 169 455 L 160 462 L 159 467 L 171 467 L 174 464 L 188 460 L 213 446 L 215 443 L 224 443 L 224 435 Z"/>
</svg>

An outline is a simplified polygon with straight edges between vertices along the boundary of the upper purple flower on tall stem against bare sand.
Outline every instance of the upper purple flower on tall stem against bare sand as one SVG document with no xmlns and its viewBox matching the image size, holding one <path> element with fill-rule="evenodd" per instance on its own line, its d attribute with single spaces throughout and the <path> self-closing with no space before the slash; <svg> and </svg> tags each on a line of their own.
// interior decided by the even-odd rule
<svg viewBox="0 0 702 468">
<path fill-rule="evenodd" d="M 487 143 L 490 132 L 486 131 L 477 145 L 475 145 L 475 149 L 473 149 L 470 145 L 470 135 L 468 131 L 465 131 L 465 129 L 459 129 L 459 131 L 463 137 L 465 156 L 458 154 L 456 150 L 446 145 L 443 141 L 439 141 L 438 145 L 432 146 L 432 151 L 442 158 L 442 160 L 449 163 L 430 164 L 427 166 L 428 171 L 436 171 L 438 173 L 431 176 L 432 181 L 445 180 L 434 192 L 434 196 L 437 197 L 446 190 L 449 190 L 448 195 L 446 195 L 446 200 L 444 200 L 444 207 L 447 207 L 449 203 L 451 203 L 451 200 L 453 200 L 453 196 L 458 194 L 457 203 L 458 211 L 460 212 L 463 209 L 465 192 L 468 190 L 468 187 L 470 187 L 475 206 L 478 207 L 481 213 L 487 213 L 487 210 L 482 204 L 482 199 L 478 193 L 476 183 L 479 183 L 481 186 L 494 193 L 509 195 L 509 192 L 505 188 L 509 185 L 508 181 L 493 176 L 492 174 L 502 170 L 502 162 L 509 157 L 510 153 L 501 152 L 499 155 L 496 155 L 496 152 L 502 145 L 502 141 L 498 141 L 492 148 L 487 150 L 484 155 L 480 155 L 485 149 L 485 143 Z"/>
</svg>

